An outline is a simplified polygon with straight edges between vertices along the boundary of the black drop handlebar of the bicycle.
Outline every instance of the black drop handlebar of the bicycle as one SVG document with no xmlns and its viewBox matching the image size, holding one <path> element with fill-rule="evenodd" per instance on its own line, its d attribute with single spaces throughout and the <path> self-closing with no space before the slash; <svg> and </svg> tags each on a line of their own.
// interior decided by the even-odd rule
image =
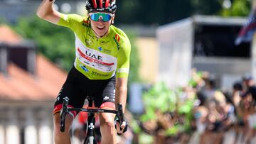
<svg viewBox="0 0 256 144">
<path fill-rule="evenodd" d="M 114 113 L 117 116 L 117 121 L 122 123 L 124 121 L 124 113 L 122 111 L 122 104 L 117 104 L 117 110 L 110 109 L 84 109 L 84 108 L 68 108 L 69 99 L 66 98 L 63 100 L 63 109 L 60 111 L 60 131 L 65 131 L 65 116 L 70 111 L 85 111 L 88 113 Z"/>
</svg>

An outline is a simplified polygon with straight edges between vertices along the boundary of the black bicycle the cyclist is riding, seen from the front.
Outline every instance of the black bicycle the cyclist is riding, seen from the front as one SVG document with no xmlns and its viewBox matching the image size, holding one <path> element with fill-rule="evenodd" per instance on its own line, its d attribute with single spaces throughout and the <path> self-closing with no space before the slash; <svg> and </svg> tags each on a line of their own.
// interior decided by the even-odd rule
<svg viewBox="0 0 256 144">
<path fill-rule="evenodd" d="M 116 120 L 119 123 L 124 121 L 124 113 L 122 112 L 122 104 L 117 104 L 117 110 L 110 110 L 110 109 L 92 109 L 93 99 L 90 96 L 86 98 L 89 102 L 89 108 L 68 108 L 68 97 L 63 99 L 63 109 L 60 113 L 60 131 L 65 131 L 65 116 L 70 111 L 84 111 L 88 113 L 87 118 L 87 126 L 86 126 L 86 137 L 83 144 L 97 144 L 95 140 L 95 113 L 114 113 L 116 114 Z"/>
</svg>

